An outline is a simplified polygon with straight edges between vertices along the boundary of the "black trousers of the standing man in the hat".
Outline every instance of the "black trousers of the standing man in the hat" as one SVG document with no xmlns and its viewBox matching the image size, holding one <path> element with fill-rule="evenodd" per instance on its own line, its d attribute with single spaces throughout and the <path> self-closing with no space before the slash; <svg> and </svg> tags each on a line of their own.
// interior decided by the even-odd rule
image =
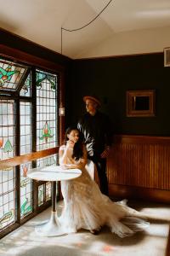
<svg viewBox="0 0 170 256">
<path fill-rule="evenodd" d="M 106 159 L 95 158 L 92 156 L 88 157 L 88 159 L 93 160 L 94 164 L 96 165 L 101 193 L 105 195 L 109 195 L 108 181 L 107 181 L 107 175 L 106 175 Z"/>
</svg>

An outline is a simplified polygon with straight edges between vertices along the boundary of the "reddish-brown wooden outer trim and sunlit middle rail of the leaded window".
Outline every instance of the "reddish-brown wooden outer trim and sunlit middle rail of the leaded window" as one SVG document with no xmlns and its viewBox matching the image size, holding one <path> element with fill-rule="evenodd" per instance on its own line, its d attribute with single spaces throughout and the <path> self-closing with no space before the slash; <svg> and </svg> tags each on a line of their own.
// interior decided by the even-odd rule
<svg viewBox="0 0 170 256">
<path fill-rule="evenodd" d="M 0 55 L 3 58 L 6 58 L 7 60 L 11 60 L 14 62 L 19 62 L 30 65 L 31 68 L 40 68 L 43 71 L 51 72 L 51 73 L 57 73 L 58 74 L 58 106 L 59 107 L 65 107 L 65 67 L 60 66 L 59 64 L 53 62 L 53 61 L 47 61 L 45 59 L 42 59 L 40 57 L 27 54 L 24 51 L 21 51 L 19 49 L 13 49 L 6 45 L 0 44 Z M 3 96 L 4 99 L 10 98 L 9 96 Z M 14 96 L 12 96 L 14 98 Z M 20 96 L 20 98 L 22 98 Z M 16 97 L 16 100 L 18 98 Z M 32 102 L 32 98 L 24 98 L 24 101 Z M 59 144 L 63 142 L 65 134 L 65 116 L 59 116 Z M 35 150 L 33 150 L 35 151 Z M 14 158 L 8 159 L 8 160 L 1 160 L 0 161 L 0 169 L 4 170 L 10 167 L 16 167 L 15 172 L 17 175 L 20 173 L 18 172 L 19 166 L 22 164 L 25 164 L 29 161 L 34 161 L 52 154 L 57 154 L 59 152 L 59 146 L 55 148 L 48 148 L 42 151 L 33 152 L 31 154 L 25 154 L 20 155 L 20 152 L 18 152 L 18 156 L 15 156 Z M 34 183 L 34 181 L 33 181 Z M 18 184 L 19 186 L 19 184 Z M 34 187 L 37 188 L 37 184 L 33 184 Z M 35 201 L 35 200 L 34 200 Z M 9 232 L 12 230 L 15 230 L 17 227 L 19 227 L 21 224 L 24 224 L 28 219 L 34 217 L 37 215 L 37 213 L 42 212 L 44 209 L 50 206 L 51 201 L 48 201 L 42 205 L 42 207 L 35 207 L 33 205 L 33 212 L 31 212 L 26 218 L 20 219 L 17 217 L 17 220 L 14 224 L 9 225 L 5 230 L 3 230 L 0 233 L 0 237 L 6 236 Z M 19 214 L 18 214 L 19 215 Z"/>
</svg>

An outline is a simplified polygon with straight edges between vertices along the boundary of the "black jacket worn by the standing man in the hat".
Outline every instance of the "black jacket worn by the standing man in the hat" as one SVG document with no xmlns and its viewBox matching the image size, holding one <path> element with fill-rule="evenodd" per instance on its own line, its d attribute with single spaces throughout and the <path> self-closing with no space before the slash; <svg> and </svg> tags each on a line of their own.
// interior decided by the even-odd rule
<svg viewBox="0 0 170 256">
<path fill-rule="evenodd" d="M 77 128 L 82 132 L 89 156 L 98 157 L 105 146 L 111 146 L 112 125 L 105 113 L 98 111 L 94 116 L 86 113 L 78 121 Z"/>
</svg>

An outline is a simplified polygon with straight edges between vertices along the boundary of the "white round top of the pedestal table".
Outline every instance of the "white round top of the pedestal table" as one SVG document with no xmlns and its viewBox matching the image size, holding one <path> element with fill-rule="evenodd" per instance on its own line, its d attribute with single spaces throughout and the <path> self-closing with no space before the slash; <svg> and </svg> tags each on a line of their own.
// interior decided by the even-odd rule
<svg viewBox="0 0 170 256">
<path fill-rule="evenodd" d="M 61 166 L 43 166 L 32 168 L 27 172 L 27 177 L 42 181 L 61 181 L 81 176 L 79 169 L 62 169 Z"/>
</svg>

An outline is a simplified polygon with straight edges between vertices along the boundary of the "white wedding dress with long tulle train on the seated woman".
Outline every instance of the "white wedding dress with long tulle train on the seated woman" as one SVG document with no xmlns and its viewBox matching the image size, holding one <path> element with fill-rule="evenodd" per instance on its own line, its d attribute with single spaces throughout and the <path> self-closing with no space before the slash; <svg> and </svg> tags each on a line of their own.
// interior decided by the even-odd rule
<svg viewBox="0 0 170 256">
<path fill-rule="evenodd" d="M 65 145 L 61 148 L 65 150 Z M 67 164 L 78 162 L 67 157 Z M 111 232 L 125 237 L 132 236 L 133 233 L 149 226 L 148 222 L 140 218 L 139 212 L 126 206 L 126 201 L 113 202 L 108 196 L 103 195 L 86 168 L 82 168 L 81 171 L 80 177 L 61 181 L 64 209 L 59 222 L 66 233 L 77 232 L 79 229 L 99 230 L 107 225 Z"/>
</svg>

